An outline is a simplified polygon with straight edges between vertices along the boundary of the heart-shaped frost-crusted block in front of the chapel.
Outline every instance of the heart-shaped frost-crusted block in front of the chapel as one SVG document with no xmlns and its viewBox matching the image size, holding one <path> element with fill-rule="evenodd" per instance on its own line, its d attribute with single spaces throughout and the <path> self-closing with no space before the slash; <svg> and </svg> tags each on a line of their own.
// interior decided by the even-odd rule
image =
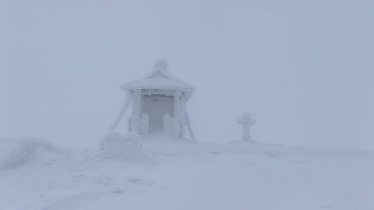
<svg viewBox="0 0 374 210">
<path fill-rule="evenodd" d="M 110 132 L 105 134 L 100 141 L 100 156 L 139 160 L 145 155 L 140 136 L 137 133 L 127 132 L 121 135 Z"/>
</svg>

